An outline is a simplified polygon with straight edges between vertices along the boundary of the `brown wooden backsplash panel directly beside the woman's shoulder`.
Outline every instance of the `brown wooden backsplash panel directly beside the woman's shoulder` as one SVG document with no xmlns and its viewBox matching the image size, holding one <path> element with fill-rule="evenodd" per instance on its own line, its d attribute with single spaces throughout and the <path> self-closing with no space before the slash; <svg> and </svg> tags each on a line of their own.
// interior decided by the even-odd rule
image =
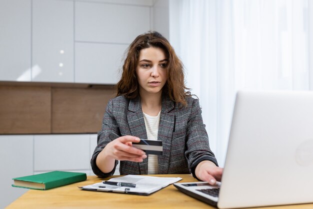
<svg viewBox="0 0 313 209">
<path fill-rule="evenodd" d="M 52 88 L 52 133 L 97 133 L 105 106 L 115 96 L 112 86 Z"/>
</svg>

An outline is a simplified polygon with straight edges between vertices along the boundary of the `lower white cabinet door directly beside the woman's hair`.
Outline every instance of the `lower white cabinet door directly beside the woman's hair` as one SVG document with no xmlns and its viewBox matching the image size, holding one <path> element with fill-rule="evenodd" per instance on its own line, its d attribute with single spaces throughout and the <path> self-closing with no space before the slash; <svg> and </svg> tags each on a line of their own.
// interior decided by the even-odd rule
<svg viewBox="0 0 313 209">
<path fill-rule="evenodd" d="M 116 84 L 128 45 L 75 44 L 75 82 Z"/>
</svg>

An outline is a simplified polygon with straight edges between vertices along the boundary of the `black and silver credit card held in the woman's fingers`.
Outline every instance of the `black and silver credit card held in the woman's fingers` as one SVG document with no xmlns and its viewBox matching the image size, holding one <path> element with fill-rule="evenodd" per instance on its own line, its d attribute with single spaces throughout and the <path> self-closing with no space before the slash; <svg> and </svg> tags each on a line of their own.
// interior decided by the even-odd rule
<svg viewBox="0 0 313 209">
<path fill-rule="evenodd" d="M 140 139 L 137 143 L 132 142 L 132 146 L 143 150 L 145 154 L 162 155 L 163 152 L 162 141 Z"/>
</svg>

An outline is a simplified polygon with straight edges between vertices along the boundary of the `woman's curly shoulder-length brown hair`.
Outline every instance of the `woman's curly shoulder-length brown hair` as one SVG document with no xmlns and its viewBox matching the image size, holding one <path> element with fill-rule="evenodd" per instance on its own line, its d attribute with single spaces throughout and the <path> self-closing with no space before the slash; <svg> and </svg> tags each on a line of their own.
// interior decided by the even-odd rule
<svg viewBox="0 0 313 209">
<path fill-rule="evenodd" d="M 129 45 L 127 56 L 123 65 L 121 79 L 117 83 L 116 96 L 123 95 L 126 98 L 134 99 L 139 95 L 139 84 L 136 78 L 136 67 L 140 50 L 155 47 L 164 51 L 168 60 L 167 81 L 162 89 L 162 94 L 170 100 L 186 106 L 186 97 L 190 96 L 189 89 L 184 84 L 183 65 L 176 56 L 174 49 L 169 42 L 158 32 L 141 34 Z"/>
</svg>

